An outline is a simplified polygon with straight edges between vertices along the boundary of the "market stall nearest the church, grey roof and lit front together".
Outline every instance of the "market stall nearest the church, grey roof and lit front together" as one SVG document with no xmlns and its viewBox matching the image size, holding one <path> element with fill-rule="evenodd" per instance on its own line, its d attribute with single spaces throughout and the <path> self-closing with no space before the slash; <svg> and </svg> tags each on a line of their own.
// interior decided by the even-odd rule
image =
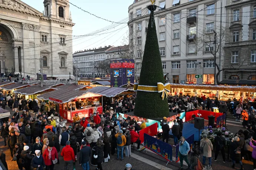
<svg viewBox="0 0 256 170">
<path fill-rule="evenodd" d="M 55 89 L 51 87 L 41 87 L 41 86 L 29 86 L 23 89 L 15 90 L 14 93 L 21 95 L 24 99 L 37 99 L 37 96 L 40 94 L 53 91 Z"/>
</svg>

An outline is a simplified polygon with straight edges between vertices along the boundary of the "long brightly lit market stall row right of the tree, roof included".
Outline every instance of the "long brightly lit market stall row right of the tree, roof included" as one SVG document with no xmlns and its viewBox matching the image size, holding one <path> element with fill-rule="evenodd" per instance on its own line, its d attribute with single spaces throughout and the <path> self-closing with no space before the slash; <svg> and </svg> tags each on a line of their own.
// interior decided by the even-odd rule
<svg viewBox="0 0 256 170">
<path fill-rule="evenodd" d="M 219 100 L 226 101 L 227 99 L 256 98 L 255 86 L 219 86 L 219 85 L 199 85 L 199 84 L 171 84 L 170 95 L 187 95 L 203 96 L 214 99 L 218 97 Z"/>
</svg>

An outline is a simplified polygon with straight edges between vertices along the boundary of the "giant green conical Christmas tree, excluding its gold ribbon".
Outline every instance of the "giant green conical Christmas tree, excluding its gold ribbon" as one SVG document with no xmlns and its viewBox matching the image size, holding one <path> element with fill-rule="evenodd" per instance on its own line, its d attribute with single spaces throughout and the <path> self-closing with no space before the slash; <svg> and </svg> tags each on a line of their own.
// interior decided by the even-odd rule
<svg viewBox="0 0 256 170">
<path fill-rule="evenodd" d="M 140 83 L 135 101 L 134 114 L 145 118 L 158 118 L 169 116 L 168 101 L 166 96 L 162 99 L 162 93 L 139 90 L 147 86 L 164 84 L 164 73 L 158 46 L 157 31 L 155 29 L 154 10 L 156 6 L 149 6 L 151 10 L 148 22 L 147 37 L 143 54 Z M 144 86 L 144 87 L 142 87 Z"/>
</svg>

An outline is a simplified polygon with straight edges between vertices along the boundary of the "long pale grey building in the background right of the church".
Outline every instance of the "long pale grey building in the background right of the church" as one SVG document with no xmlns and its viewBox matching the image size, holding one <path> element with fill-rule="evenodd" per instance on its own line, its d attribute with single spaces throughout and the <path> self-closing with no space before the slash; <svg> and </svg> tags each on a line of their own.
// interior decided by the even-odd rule
<svg viewBox="0 0 256 170">
<path fill-rule="evenodd" d="M 106 60 L 106 50 L 112 47 L 109 45 L 98 49 L 75 51 L 73 54 L 73 66 L 77 67 L 78 76 L 85 78 L 105 77 L 107 73 L 99 67 L 99 64 Z"/>
</svg>

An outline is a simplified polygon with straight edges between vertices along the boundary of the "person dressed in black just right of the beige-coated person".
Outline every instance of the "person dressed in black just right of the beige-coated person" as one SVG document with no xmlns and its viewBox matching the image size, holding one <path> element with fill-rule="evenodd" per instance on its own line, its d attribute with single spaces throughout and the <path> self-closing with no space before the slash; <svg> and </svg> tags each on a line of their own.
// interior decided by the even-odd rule
<svg viewBox="0 0 256 170">
<path fill-rule="evenodd" d="M 219 131 L 217 133 L 217 136 L 214 138 L 215 141 L 215 146 L 216 146 L 216 151 L 215 151 L 215 156 L 213 158 L 214 161 L 217 161 L 217 157 L 219 154 L 219 151 L 221 151 L 222 154 L 222 159 L 223 159 L 223 163 L 226 162 L 226 157 L 225 157 L 225 144 L 226 144 L 226 140 L 223 136 L 221 136 L 221 132 Z"/>
</svg>

